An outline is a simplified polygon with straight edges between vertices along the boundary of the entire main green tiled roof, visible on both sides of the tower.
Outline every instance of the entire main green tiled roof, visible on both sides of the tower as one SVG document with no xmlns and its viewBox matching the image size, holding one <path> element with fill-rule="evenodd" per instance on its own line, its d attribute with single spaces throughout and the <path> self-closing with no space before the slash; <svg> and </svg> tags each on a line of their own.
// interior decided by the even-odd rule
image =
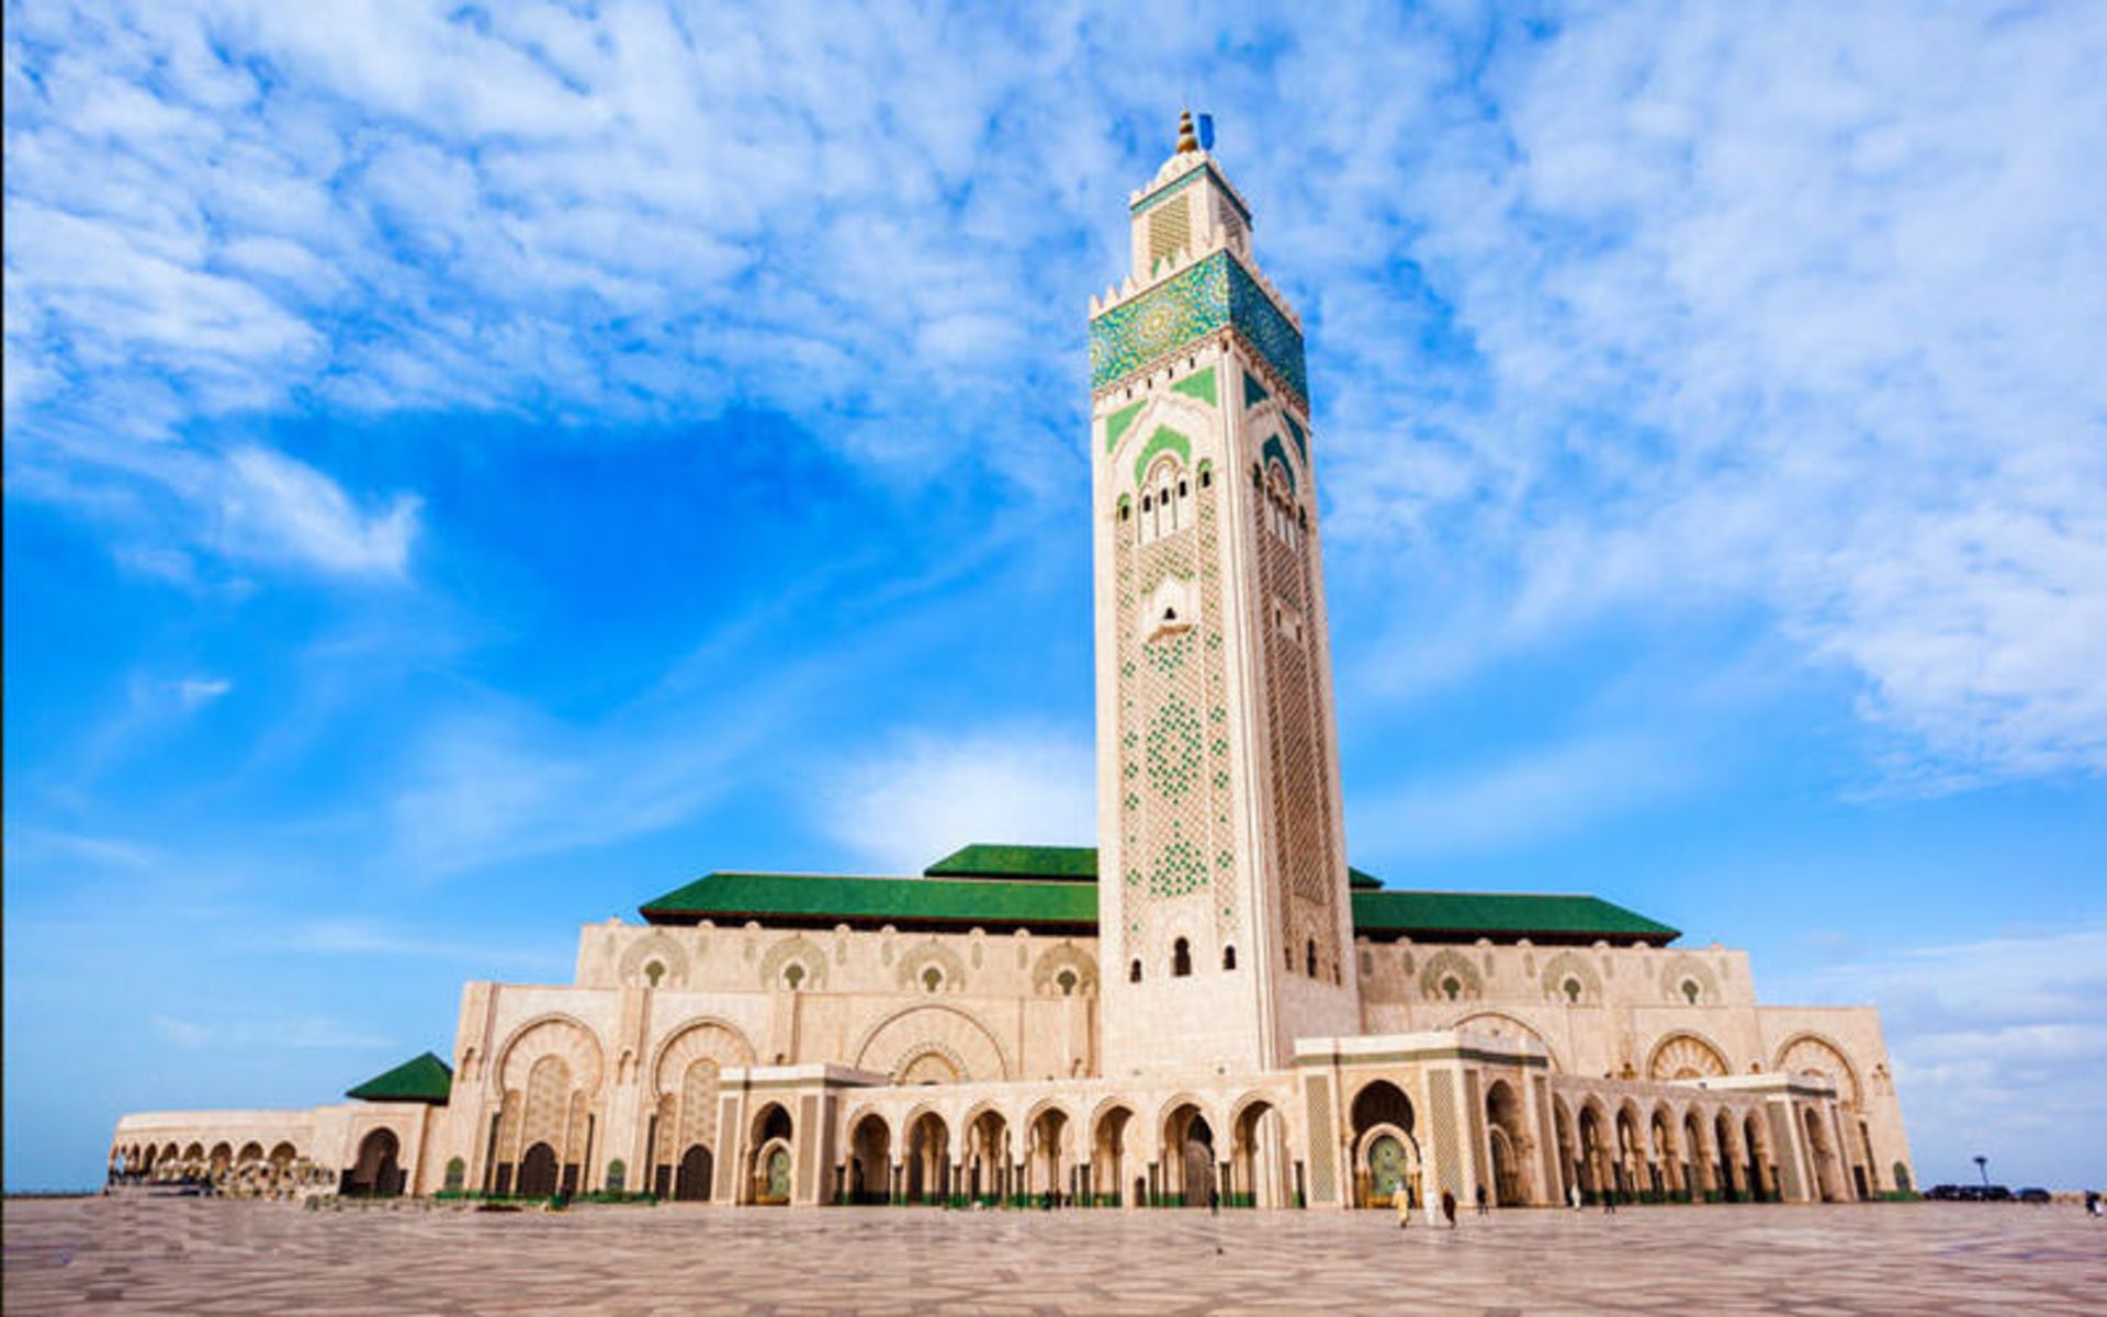
<svg viewBox="0 0 2107 1317">
<path fill-rule="evenodd" d="M 1091 847 L 969 845 L 923 872 L 927 877 L 921 879 L 712 872 L 647 902 L 638 912 L 649 923 L 752 919 L 813 929 L 845 923 L 904 931 L 1098 933 L 1098 851 Z M 1348 874 L 1353 927 L 1363 938 L 1665 946 L 1681 936 L 1593 896 L 1384 891 L 1374 874 L 1359 868 Z"/>
</svg>

